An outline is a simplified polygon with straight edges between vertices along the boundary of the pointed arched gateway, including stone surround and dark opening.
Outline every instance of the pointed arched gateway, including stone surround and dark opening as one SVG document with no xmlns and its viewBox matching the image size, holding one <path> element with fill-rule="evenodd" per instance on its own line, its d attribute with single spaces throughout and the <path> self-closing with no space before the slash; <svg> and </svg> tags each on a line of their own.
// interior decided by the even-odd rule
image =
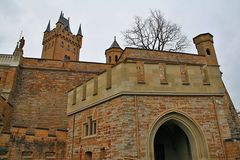
<svg viewBox="0 0 240 160">
<path fill-rule="evenodd" d="M 185 113 L 171 111 L 159 117 L 150 129 L 149 160 L 207 160 L 205 138 Z"/>
</svg>

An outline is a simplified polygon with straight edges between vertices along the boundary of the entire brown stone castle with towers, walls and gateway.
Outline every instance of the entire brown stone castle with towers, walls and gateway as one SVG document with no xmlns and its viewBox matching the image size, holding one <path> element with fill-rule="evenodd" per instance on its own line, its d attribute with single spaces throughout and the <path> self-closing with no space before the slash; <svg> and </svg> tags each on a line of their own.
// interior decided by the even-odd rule
<svg viewBox="0 0 240 160">
<path fill-rule="evenodd" d="M 240 159 L 211 34 L 193 38 L 197 54 L 114 39 L 106 63 L 79 61 L 82 40 L 61 13 L 41 58 L 24 57 L 24 41 L 0 55 L 0 159 Z"/>
</svg>

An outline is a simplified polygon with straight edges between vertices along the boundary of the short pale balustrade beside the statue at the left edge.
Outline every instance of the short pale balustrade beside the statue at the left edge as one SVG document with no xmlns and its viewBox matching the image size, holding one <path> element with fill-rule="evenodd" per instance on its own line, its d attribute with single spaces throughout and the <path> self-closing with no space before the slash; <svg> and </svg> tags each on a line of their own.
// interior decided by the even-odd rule
<svg viewBox="0 0 240 160">
<path fill-rule="evenodd" d="M 18 66 L 19 62 L 19 55 L 0 54 L 0 65 L 2 66 Z"/>
</svg>

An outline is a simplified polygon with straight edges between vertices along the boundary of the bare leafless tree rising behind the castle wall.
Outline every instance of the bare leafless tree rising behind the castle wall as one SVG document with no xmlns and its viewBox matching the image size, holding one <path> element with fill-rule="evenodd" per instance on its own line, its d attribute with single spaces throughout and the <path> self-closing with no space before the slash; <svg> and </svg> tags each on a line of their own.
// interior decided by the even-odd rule
<svg viewBox="0 0 240 160">
<path fill-rule="evenodd" d="M 160 10 L 151 10 L 146 19 L 136 16 L 131 29 L 123 32 L 128 46 L 159 51 L 183 51 L 189 40 L 181 27 L 167 21 Z"/>
</svg>

